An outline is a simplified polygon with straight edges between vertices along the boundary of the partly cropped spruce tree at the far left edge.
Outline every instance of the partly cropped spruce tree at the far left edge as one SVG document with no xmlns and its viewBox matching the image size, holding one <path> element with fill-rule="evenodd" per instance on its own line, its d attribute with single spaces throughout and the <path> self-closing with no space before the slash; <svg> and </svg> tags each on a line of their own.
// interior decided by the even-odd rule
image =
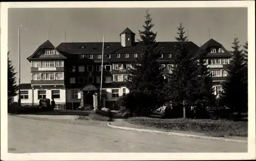
<svg viewBox="0 0 256 161">
<path fill-rule="evenodd" d="M 12 66 L 12 61 L 9 58 L 8 52 L 8 103 L 11 102 L 12 97 L 17 95 L 18 86 L 16 85 L 15 68 Z"/>
</svg>

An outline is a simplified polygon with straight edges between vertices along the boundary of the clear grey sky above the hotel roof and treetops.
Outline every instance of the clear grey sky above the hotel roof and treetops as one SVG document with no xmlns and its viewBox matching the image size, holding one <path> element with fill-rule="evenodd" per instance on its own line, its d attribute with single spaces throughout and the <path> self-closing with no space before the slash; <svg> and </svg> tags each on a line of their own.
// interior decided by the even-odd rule
<svg viewBox="0 0 256 161">
<path fill-rule="evenodd" d="M 198 46 L 210 38 L 231 50 L 234 36 L 247 41 L 246 8 L 148 8 L 157 41 L 175 41 L 183 22 L 188 40 Z M 27 58 L 49 39 L 55 47 L 66 42 L 119 42 L 119 34 L 130 28 L 138 39 L 145 8 L 15 8 L 8 9 L 8 50 L 18 70 L 18 28 L 20 28 L 20 82 L 30 83 Z M 49 32 L 48 32 L 49 31 Z M 49 34 L 48 34 L 49 33 Z M 49 36 L 48 36 L 49 35 Z"/>
</svg>

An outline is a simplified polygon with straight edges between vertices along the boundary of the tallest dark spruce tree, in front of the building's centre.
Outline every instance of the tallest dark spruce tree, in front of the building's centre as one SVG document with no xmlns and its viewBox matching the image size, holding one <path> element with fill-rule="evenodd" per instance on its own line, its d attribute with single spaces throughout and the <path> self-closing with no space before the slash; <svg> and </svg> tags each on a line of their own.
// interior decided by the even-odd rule
<svg viewBox="0 0 256 161">
<path fill-rule="evenodd" d="M 130 105 L 136 116 L 150 115 L 156 108 L 163 105 L 164 98 L 162 92 L 163 70 L 160 69 L 160 64 L 157 62 L 160 56 L 160 51 L 156 48 L 158 45 L 156 43 L 157 33 L 152 31 L 154 24 L 152 24 L 152 18 L 148 12 L 145 18 L 144 31 L 139 31 L 139 42 L 143 44 L 143 48 L 141 56 L 137 59 L 136 64 L 133 64 L 134 68 L 130 70 L 128 84 L 130 93 L 126 95 L 127 99 L 137 100 L 136 104 Z"/>
</svg>

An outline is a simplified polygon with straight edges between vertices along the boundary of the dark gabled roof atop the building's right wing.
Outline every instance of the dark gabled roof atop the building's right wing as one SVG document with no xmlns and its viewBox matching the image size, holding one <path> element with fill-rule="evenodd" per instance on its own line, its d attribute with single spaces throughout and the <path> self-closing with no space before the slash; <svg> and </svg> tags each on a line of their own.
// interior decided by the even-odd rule
<svg viewBox="0 0 256 161">
<path fill-rule="evenodd" d="M 207 42 L 205 42 L 196 53 L 196 56 L 198 56 L 201 53 L 206 53 L 207 49 L 209 47 L 221 47 L 224 51 L 224 53 L 207 53 L 206 57 L 231 57 L 232 55 L 223 47 L 221 43 L 214 39 L 210 39 Z"/>
</svg>

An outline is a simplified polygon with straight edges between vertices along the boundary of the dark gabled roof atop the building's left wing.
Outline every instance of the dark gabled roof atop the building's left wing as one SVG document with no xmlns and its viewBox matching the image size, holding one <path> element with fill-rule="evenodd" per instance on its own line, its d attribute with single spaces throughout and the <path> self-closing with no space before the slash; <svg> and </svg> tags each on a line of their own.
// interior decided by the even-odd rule
<svg viewBox="0 0 256 161">
<path fill-rule="evenodd" d="M 58 55 L 48 55 L 48 56 L 36 56 L 35 57 L 35 54 L 40 50 L 40 49 L 44 49 L 44 48 L 50 48 L 50 49 L 54 49 L 56 50 L 56 52 L 58 53 Z M 32 59 L 66 59 L 67 57 L 65 57 L 64 55 L 62 55 L 55 47 L 54 45 L 49 41 L 49 40 L 46 40 L 44 43 L 42 43 L 37 49 L 36 51 L 30 56 L 28 57 L 27 59 L 28 60 L 32 60 Z"/>
</svg>

